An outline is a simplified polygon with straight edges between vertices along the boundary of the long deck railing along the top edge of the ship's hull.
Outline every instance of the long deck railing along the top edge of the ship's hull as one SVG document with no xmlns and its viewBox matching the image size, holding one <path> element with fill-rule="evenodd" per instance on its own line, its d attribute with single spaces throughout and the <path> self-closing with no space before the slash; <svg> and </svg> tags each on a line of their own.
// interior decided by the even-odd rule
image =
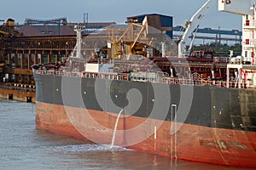
<svg viewBox="0 0 256 170">
<path fill-rule="evenodd" d="M 141 78 L 131 77 L 129 73 L 99 73 L 99 72 L 75 72 L 75 71 L 44 71 L 34 70 L 34 74 L 57 75 L 67 77 L 86 77 L 86 78 L 100 78 L 108 80 L 119 81 L 133 81 L 133 82 L 159 82 L 167 84 L 181 84 L 181 85 L 196 85 L 196 86 L 216 86 L 227 88 L 226 81 L 204 80 L 204 79 L 187 79 L 180 77 L 155 77 L 155 78 Z M 239 88 L 237 81 L 230 81 L 229 88 Z M 256 88 L 252 84 L 248 85 L 246 82 L 241 82 L 241 88 Z"/>
</svg>

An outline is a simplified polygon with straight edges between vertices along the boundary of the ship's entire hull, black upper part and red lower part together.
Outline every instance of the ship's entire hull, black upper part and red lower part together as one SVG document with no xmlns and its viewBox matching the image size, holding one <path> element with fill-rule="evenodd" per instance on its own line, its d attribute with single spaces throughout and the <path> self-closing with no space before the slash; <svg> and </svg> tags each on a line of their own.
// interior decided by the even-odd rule
<svg viewBox="0 0 256 170">
<path fill-rule="evenodd" d="M 256 133 L 253 124 L 256 110 L 255 103 L 249 102 L 255 94 L 253 90 L 193 87 L 193 101 L 189 107 L 189 113 L 184 122 L 178 122 L 178 120 L 174 121 L 175 117 L 171 115 L 172 104 L 182 105 L 180 103 L 182 97 L 179 95 L 182 94 L 183 88 L 170 85 L 171 99 L 168 101 L 170 107 L 163 118 L 148 116 L 148 112 L 154 110 L 154 106 L 149 103 L 157 98 L 157 95 L 152 97 L 149 90 L 152 87 L 151 83 L 125 82 L 122 84 L 123 82 L 120 81 L 101 80 L 107 87 L 108 84 L 113 85 L 109 86 L 110 89 L 115 89 L 109 91 L 110 99 L 120 107 L 127 104 L 119 103 L 119 100 L 114 98 L 118 98 L 124 91 L 127 92 L 127 89 L 133 87 L 137 87 L 143 99 L 146 99 L 142 101 L 142 106 L 135 114 L 125 116 L 124 111 L 118 119 L 122 111 L 102 109 L 99 104 L 101 102 L 96 101 L 98 100 L 95 95 L 96 87 L 91 86 L 96 84 L 95 79 L 79 80 L 74 77 L 71 81 L 82 85 L 79 93 L 86 92 L 85 97 L 81 98 L 84 105 L 78 104 L 78 101 L 73 98 L 73 95 L 78 95 L 75 92 L 69 94 L 68 99 L 64 96 L 66 94 L 64 90 L 70 89 L 66 89 L 67 87 L 63 85 L 63 77 L 35 75 L 35 79 L 38 128 L 88 139 L 97 144 L 114 142 L 116 145 L 134 150 L 172 158 L 238 167 L 256 167 Z M 99 87 L 104 87 L 101 85 Z M 125 86 L 129 88 L 126 87 L 126 89 Z M 73 84 L 73 87 L 76 87 L 76 84 Z M 117 88 L 122 90 L 117 92 Z M 145 88 L 147 90 L 143 91 Z M 90 91 L 93 91 L 94 95 L 90 94 Z M 186 91 L 186 94 L 188 93 Z M 108 97 L 103 100 L 108 103 Z M 160 105 L 160 107 L 163 106 Z M 158 115 L 161 114 L 162 112 L 158 112 Z M 143 124 L 143 122 L 146 123 Z M 113 141 L 113 129 L 116 123 L 117 133 Z M 139 127 L 141 124 L 143 127 Z M 172 133 L 173 128 L 177 132 Z M 133 131 L 133 129 L 136 130 Z"/>
</svg>

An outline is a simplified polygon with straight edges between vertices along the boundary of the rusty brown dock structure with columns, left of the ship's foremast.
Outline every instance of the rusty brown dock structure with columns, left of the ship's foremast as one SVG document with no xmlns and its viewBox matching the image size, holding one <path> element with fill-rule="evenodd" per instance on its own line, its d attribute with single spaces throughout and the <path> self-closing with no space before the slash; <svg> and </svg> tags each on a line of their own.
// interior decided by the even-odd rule
<svg viewBox="0 0 256 170">
<path fill-rule="evenodd" d="M 86 23 L 87 32 L 96 31 L 115 23 Z M 34 87 L 32 65 L 64 61 L 76 45 L 78 23 L 67 23 L 67 19 L 26 19 L 22 26 L 14 20 L 0 26 L 0 82 L 15 87 Z"/>
</svg>

